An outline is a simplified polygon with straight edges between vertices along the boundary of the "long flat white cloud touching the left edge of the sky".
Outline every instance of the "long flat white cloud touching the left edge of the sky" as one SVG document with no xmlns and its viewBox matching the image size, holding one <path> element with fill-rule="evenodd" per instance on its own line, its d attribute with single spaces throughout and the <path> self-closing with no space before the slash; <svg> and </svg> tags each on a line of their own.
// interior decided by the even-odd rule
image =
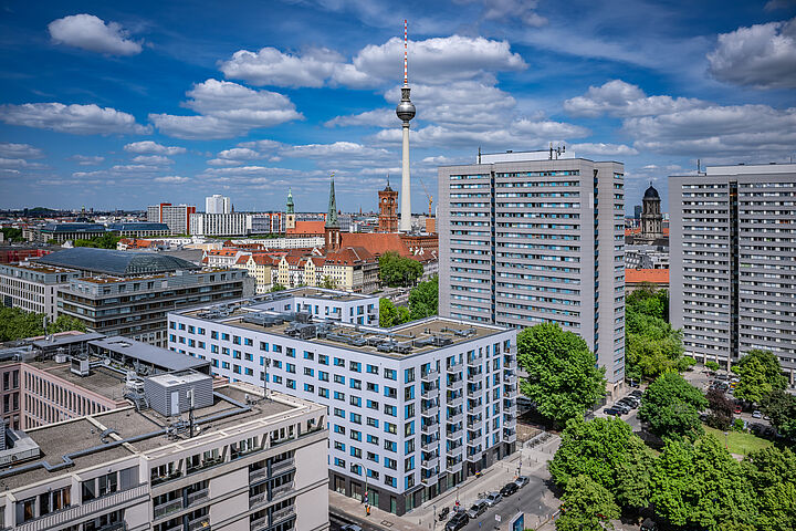
<svg viewBox="0 0 796 531">
<path fill-rule="evenodd" d="M 132 114 L 98 105 L 25 103 L 0 105 L 0 119 L 11 125 L 52 129 L 75 135 L 147 134 Z"/>
</svg>

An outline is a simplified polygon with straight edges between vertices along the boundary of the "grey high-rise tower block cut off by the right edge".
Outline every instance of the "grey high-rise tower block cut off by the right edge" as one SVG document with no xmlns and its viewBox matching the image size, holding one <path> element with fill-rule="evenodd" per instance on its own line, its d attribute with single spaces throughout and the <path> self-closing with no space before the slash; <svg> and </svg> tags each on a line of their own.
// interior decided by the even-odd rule
<svg viewBox="0 0 796 531">
<path fill-rule="evenodd" d="M 669 177 L 670 317 L 685 353 L 730 367 L 752 348 L 796 382 L 796 165 Z"/>
</svg>

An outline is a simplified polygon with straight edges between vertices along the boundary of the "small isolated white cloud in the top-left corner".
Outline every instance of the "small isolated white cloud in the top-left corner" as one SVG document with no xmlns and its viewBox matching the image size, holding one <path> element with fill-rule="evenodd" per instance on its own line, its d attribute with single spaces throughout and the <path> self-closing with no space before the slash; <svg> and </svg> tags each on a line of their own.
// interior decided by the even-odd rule
<svg viewBox="0 0 796 531">
<path fill-rule="evenodd" d="M 53 20 L 48 29 L 56 44 L 108 55 L 135 55 L 142 51 L 140 43 L 129 40 L 129 33 L 118 23 L 106 24 L 93 14 L 72 14 Z"/>
</svg>

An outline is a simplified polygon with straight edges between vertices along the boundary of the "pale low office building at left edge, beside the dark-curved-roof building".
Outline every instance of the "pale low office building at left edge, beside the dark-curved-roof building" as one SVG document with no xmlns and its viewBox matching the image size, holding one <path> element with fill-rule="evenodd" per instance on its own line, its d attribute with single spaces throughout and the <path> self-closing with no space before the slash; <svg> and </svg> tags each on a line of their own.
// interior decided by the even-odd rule
<svg viewBox="0 0 796 531">
<path fill-rule="evenodd" d="M 38 263 L 0 264 L 0 303 L 25 312 L 43 313 L 50 321 L 57 317 L 57 291 L 80 271 Z"/>
</svg>

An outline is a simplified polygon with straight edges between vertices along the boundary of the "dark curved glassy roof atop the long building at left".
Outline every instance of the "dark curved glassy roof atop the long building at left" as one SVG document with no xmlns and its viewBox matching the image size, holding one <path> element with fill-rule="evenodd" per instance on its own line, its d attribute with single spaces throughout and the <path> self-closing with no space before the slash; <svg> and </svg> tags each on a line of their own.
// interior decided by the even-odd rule
<svg viewBox="0 0 796 531">
<path fill-rule="evenodd" d="M 126 252 L 91 247 L 75 247 L 73 249 L 52 252 L 38 259 L 36 263 L 118 277 L 200 269 L 198 266 L 181 258 L 159 253 Z"/>
</svg>

